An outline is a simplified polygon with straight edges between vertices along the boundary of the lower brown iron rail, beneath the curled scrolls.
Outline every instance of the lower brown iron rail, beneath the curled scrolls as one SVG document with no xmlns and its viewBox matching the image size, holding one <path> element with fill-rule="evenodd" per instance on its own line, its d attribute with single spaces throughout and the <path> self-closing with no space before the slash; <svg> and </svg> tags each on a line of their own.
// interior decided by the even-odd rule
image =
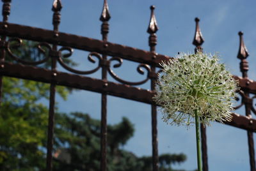
<svg viewBox="0 0 256 171">
<path fill-rule="evenodd" d="M 27 80 L 35 80 L 45 83 L 51 83 L 51 81 L 54 80 L 56 81 L 57 85 L 63 85 L 76 89 L 84 89 L 96 93 L 108 93 L 112 96 L 140 101 L 148 104 L 154 103 L 152 101 L 154 92 L 149 90 L 132 87 L 130 85 L 117 84 L 115 82 L 106 82 L 96 78 L 84 77 L 81 75 L 74 75 L 60 71 L 52 73 L 51 70 L 34 66 L 24 66 L 22 64 L 4 62 L 0 64 L 0 74 L 8 77 L 24 78 Z M 244 130 L 250 130 L 254 132 L 256 131 L 255 119 L 234 113 L 232 115 L 232 121 L 225 122 L 225 124 Z"/>
</svg>

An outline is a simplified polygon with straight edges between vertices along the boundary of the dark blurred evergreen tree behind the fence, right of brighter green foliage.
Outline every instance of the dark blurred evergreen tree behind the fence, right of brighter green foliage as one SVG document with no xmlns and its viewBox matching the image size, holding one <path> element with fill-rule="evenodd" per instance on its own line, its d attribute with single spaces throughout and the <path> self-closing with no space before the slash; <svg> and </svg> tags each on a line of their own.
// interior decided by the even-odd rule
<svg viewBox="0 0 256 171">
<path fill-rule="evenodd" d="M 58 115 L 56 120 L 60 121 L 56 126 L 56 142 L 61 149 L 55 155 L 55 170 L 99 170 L 100 121 L 78 112 Z M 152 170 L 151 156 L 138 157 L 120 148 L 133 133 L 133 125 L 125 117 L 118 124 L 108 125 L 109 171 Z M 63 144 L 66 147 L 63 148 Z M 184 154 L 162 154 L 159 156 L 160 170 L 172 171 L 172 164 L 185 160 Z"/>
</svg>

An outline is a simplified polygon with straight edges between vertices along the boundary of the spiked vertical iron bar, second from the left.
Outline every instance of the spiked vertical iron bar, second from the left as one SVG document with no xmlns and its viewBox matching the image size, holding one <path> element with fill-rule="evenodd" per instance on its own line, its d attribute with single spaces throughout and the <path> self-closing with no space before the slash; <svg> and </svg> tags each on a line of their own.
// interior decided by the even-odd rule
<svg viewBox="0 0 256 171">
<path fill-rule="evenodd" d="M 54 30 L 54 37 L 58 37 L 58 27 L 60 24 L 60 11 L 62 5 L 60 0 L 54 0 L 52 4 L 52 24 Z M 48 134 L 47 134 L 47 160 L 46 168 L 47 171 L 52 170 L 52 149 L 54 141 L 54 105 L 55 105 L 55 92 L 56 92 L 56 82 L 54 77 L 56 77 L 56 58 L 58 57 L 57 45 L 52 45 L 52 50 L 50 52 L 51 56 L 51 71 L 52 71 L 52 82 L 50 88 L 50 101 L 49 101 L 49 119 L 48 119 Z"/>
</svg>

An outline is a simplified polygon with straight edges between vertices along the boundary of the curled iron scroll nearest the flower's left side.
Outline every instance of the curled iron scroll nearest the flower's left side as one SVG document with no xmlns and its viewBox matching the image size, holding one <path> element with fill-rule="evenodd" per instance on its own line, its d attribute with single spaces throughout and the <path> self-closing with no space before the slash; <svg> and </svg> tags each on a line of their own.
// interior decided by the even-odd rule
<svg viewBox="0 0 256 171">
<path fill-rule="evenodd" d="M 111 62 L 112 61 L 117 61 L 118 62 L 118 63 L 113 65 L 114 68 L 118 68 L 118 67 L 120 67 L 122 65 L 123 59 L 120 58 L 120 57 L 112 57 L 111 59 L 109 59 L 108 72 L 111 75 L 111 77 L 113 77 L 118 82 L 121 82 L 121 83 L 127 84 L 127 85 L 141 85 L 141 84 L 144 84 L 145 82 L 147 82 L 149 80 L 149 74 L 150 74 L 151 70 L 150 70 L 150 67 L 147 64 L 139 64 L 139 66 L 137 67 L 137 71 L 141 75 L 144 74 L 143 68 L 145 70 L 147 70 L 147 78 L 145 78 L 144 80 L 141 80 L 139 82 L 129 82 L 129 81 L 126 81 L 126 80 L 122 80 L 120 77 L 118 77 L 116 75 L 116 73 L 113 70 L 111 70 Z"/>
</svg>

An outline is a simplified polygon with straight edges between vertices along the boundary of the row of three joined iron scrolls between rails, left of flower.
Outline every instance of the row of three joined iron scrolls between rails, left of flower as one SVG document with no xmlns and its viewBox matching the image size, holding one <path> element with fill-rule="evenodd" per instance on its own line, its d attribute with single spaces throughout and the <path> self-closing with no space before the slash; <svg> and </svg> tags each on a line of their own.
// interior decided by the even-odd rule
<svg viewBox="0 0 256 171">
<path fill-rule="evenodd" d="M 141 81 L 129 82 L 127 80 L 123 80 L 122 78 L 118 77 L 118 75 L 116 75 L 116 73 L 111 69 L 111 62 L 116 61 L 117 63 L 113 64 L 113 68 L 119 68 L 123 64 L 123 59 L 120 58 L 120 57 L 111 57 L 109 60 L 104 61 L 105 59 L 103 59 L 102 56 L 99 53 L 90 52 L 90 54 L 88 54 L 88 57 L 87 57 L 88 61 L 90 61 L 91 63 L 96 63 L 96 61 L 97 61 L 98 64 L 92 70 L 81 71 L 81 70 L 76 70 L 74 68 L 71 68 L 63 60 L 65 58 L 68 58 L 68 57 L 72 56 L 72 54 L 74 52 L 73 48 L 61 47 L 59 50 L 53 50 L 52 46 L 49 43 L 45 43 L 45 42 L 38 43 L 36 45 L 36 48 L 38 49 L 38 51 L 40 53 L 44 54 L 44 59 L 41 59 L 39 61 L 26 61 L 24 59 L 21 59 L 20 57 L 15 56 L 15 54 L 12 52 L 13 48 L 17 49 L 21 46 L 22 46 L 22 40 L 20 38 L 10 38 L 6 42 L 6 46 L 5 46 L 6 51 L 8 52 L 10 57 L 13 60 L 15 60 L 15 61 L 17 61 L 18 63 L 21 63 L 21 64 L 38 65 L 38 64 L 42 64 L 42 63 L 47 62 L 50 57 L 57 57 L 58 63 L 60 63 L 60 65 L 63 68 L 65 68 L 65 70 L 68 70 L 72 73 L 77 73 L 77 74 L 81 74 L 81 75 L 87 75 L 87 74 L 95 73 L 96 71 L 98 71 L 102 67 L 102 64 L 106 63 L 107 67 L 108 67 L 109 75 L 111 75 L 111 77 L 113 77 L 116 81 L 118 81 L 122 84 L 141 85 L 141 84 L 144 84 L 145 82 L 147 82 L 150 79 L 151 69 L 150 69 L 150 66 L 148 66 L 147 64 L 139 64 L 138 67 L 137 67 L 137 71 L 141 75 L 144 75 L 145 70 L 147 71 L 147 77 L 145 79 L 141 80 Z M 95 58 L 97 58 L 98 60 L 95 60 Z"/>
</svg>

